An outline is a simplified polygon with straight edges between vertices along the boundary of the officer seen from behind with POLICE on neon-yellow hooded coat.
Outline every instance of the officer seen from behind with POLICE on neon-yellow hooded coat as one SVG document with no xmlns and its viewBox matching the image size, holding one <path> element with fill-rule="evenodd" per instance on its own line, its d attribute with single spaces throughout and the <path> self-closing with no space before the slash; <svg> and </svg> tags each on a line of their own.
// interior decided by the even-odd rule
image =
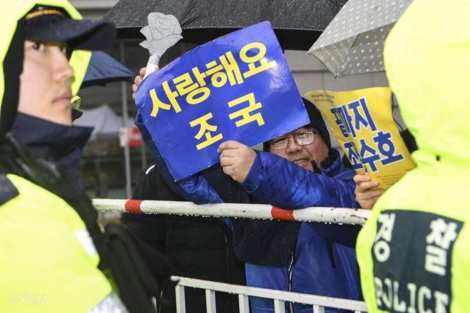
<svg viewBox="0 0 470 313">
<path fill-rule="evenodd" d="M 384 61 L 417 167 L 377 200 L 357 258 L 369 312 L 470 312 L 470 1 L 415 0 Z"/>
</svg>

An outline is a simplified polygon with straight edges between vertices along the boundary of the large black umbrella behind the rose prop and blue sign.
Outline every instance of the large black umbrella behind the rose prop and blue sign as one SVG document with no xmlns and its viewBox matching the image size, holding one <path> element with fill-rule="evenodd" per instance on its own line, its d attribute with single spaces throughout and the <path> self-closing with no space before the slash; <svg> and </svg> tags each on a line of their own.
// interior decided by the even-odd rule
<svg viewBox="0 0 470 313">
<path fill-rule="evenodd" d="M 120 0 L 103 19 L 118 39 L 145 39 L 150 12 L 174 15 L 181 41 L 205 44 L 234 30 L 270 21 L 283 49 L 308 50 L 346 0 Z"/>
</svg>

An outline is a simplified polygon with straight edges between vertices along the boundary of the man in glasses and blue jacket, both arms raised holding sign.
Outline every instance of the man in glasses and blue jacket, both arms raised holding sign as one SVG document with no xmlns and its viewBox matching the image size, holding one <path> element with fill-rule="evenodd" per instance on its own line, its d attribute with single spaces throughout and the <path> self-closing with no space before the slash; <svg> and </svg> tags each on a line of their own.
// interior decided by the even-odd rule
<svg viewBox="0 0 470 313">
<path fill-rule="evenodd" d="M 134 91 L 140 82 L 142 77 L 136 77 Z M 224 142 L 218 148 L 220 164 L 178 182 L 171 178 L 139 117 L 136 124 L 167 183 L 196 204 L 268 203 L 283 209 L 357 207 L 355 171 L 346 169 L 339 151 L 331 149 L 318 108 L 308 99 L 303 102 L 310 124 L 265 142 L 264 151 L 254 151 L 240 142 Z M 241 218 L 230 222 L 236 256 L 245 262 L 247 285 L 361 300 L 354 243 L 347 247 L 335 241 L 335 235 L 341 237 L 335 232 L 344 234 L 346 230 L 355 235 L 347 226 Z M 252 312 L 274 312 L 274 301 L 250 300 Z M 288 310 L 311 313 L 312 306 L 289 303 Z"/>
</svg>

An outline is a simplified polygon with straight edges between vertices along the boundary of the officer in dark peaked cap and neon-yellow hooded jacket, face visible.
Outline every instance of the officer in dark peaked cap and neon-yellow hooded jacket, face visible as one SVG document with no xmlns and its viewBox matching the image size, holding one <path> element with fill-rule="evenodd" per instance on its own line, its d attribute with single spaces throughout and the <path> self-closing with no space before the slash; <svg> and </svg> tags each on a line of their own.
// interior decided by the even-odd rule
<svg viewBox="0 0 470 313">
<path fill-rule="evenodd" d="M 3 0 L 0 24 L 0 312 L 155 312 L 160 290 L 133 238 L 119 225 L 102 233 L 77 179 L 10 133 L 19 111 L 42 121 L 38 134 L 55 125 L 70 135 L 56 145 L 38 136 L 30 144 L 45 155 L 75 148 L 82 49 L 108 48 L 115 28 L 81 20 L 66 0 Z"/>
</svg>

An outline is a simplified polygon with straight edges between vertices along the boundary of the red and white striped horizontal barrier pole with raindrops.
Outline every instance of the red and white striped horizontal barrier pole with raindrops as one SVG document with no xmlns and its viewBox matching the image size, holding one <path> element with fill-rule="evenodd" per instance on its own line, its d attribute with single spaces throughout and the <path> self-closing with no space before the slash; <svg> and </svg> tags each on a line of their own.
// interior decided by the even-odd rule
<svg viewBox="0 0 470 313">
<path fill-rule="evenodd" d="M 297 220 L 353 225 L 364 225 L 370 215 L 370 210 L 338 207 L 308 207 L 306 209 L 285 210 L 271 205 L 238 203 L 195 205 L 192 202 L 156 200 L 93 199 L 93 205 L 99 211 Z"/>
</svg>

